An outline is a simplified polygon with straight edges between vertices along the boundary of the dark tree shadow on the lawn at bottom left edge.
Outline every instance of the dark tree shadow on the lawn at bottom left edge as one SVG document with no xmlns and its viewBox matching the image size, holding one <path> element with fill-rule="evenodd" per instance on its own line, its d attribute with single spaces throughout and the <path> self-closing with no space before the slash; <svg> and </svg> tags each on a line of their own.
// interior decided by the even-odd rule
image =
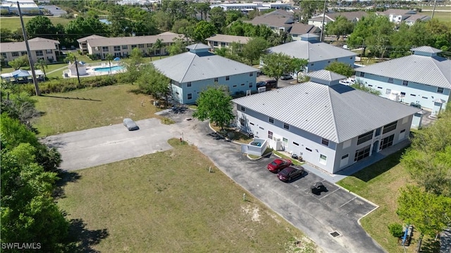
<svg viewBox="0 0 451 253">
<path fill-rule="evenodd" d="M 66 247 L 64 247 L 64 252 L 99 252 L 93 249 L 92 246 L 98 245 L 101 240 L 109 236 L 106 228 L 89 230 L 82 219 L 71 219 L 69 223 L 68 242 Z"/>
</svg>

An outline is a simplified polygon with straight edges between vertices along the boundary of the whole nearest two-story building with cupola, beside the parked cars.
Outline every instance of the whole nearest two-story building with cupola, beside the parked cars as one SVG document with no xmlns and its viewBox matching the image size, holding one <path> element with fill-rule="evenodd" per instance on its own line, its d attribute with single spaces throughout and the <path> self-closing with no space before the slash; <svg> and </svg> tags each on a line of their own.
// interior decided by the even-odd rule
<svg viewBox="0 0 451 253">
<path fill-rule="evenodd" d="M 235 98 L 237 126 L 331 174 L 409 137 L 418 108 L 339 84 L 340 74 L 307 75 L 310 82 Z"/>
</svg>

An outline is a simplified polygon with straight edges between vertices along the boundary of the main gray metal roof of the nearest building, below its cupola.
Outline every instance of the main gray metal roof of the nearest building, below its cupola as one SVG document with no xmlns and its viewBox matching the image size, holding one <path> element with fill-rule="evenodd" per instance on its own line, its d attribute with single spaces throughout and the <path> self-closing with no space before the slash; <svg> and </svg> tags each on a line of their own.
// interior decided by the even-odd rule
<svg viewBox="0 0 451 253">
<path fill-rule="evenodd" d="M 233 102 L 335 143 L 419 110 L 350 86 L 315 82 L 235 98 Z"/>
</svg>

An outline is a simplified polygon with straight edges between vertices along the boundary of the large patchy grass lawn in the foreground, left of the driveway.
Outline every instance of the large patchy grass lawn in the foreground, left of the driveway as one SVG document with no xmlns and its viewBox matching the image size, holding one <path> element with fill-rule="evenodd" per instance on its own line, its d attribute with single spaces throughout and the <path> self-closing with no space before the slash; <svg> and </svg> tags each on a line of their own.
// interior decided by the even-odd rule
<svg viewBox="0 0 451 253">
<path fill-rule="evenodd" d="M 89 231 L 99 252 L 316 252 L 316 245 L 187 143 L 76 171 L 58 206 Z M 213 172 L 207 169 L 213 167 Z M 246 201 L 243 193 L 247 194 Z M 91 238 L 95 240 L 96 238 Z M 304 250 L 296 248 L 302 241 Z"/>
</svg>

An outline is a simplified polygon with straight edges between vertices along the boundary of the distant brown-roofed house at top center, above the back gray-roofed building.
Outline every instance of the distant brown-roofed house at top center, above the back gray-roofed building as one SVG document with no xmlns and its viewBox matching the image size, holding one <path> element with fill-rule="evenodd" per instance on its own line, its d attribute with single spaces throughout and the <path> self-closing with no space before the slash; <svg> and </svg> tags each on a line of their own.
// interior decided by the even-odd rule
<svg viewBox="0 0 451 253">
<path fill-rule="evenodd" d="M 278 34 L 280 31 L 290 32 L 292 24 L 295 23 L 292 18 L 292 13 L 284 10 L 272 11 L 270 13 L 260 15 L 248 22 L 252 25 L 266 25 L 271 28 L 273 32 Z"/>
</svg>

